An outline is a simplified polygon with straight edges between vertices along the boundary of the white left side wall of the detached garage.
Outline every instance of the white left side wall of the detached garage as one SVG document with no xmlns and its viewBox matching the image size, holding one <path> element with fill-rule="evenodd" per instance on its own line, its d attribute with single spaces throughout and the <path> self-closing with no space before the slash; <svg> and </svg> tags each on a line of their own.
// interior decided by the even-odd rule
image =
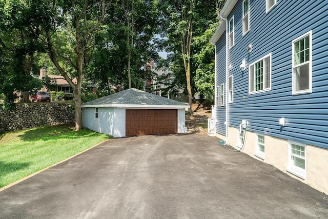
<svg viewBox="0 0 328 219">
<path fill-rule="evenodd" d="M 83 125 L 93 131 L 114 136 L 114 109 L 110 107 L 98 108 L 98 118 L 95 108 L 83 108 Z"/>
</svg>

